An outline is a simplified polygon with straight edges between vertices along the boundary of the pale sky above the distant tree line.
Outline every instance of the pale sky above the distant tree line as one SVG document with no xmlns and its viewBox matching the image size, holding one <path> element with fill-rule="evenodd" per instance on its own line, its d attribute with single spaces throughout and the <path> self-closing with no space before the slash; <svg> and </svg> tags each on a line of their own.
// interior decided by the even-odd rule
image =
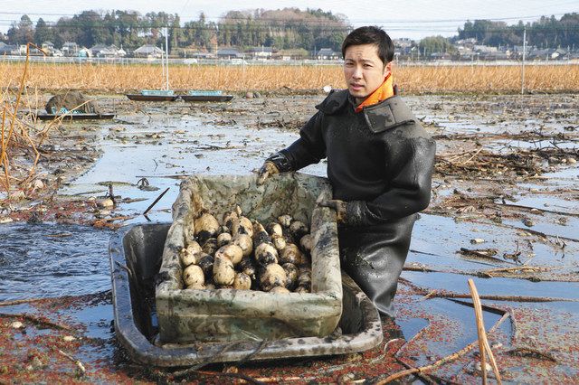
<svg viewBox="0 0 579 385">
<path fill-rule="evenodd" d="M 559 19 L 563 14 L 579 13 L 579 0 L 0 0 L 0 31 L 5 33 L 23 14 L 28 14 L 36 23 L 40 17 L 46 22 L 56 22 L 62 16 L 71 17 L 88 10 L 103 13 L 134 10 L 140 14 L 163 11 L 179 14 L 183 24 L 198 19 L 201 12 L 208 20 L 217 22 L 227 11 L 284 7 L 320 8 L 346 15 L 354 27 L 378 25 L 393 38 L 419 40 L 433 35 L 456 35 L 458 28 L 468 20 L 488 19 L 514 24 L 518 20 L 532 22 L 541 15 L 555 15 Z"/>
</svg>

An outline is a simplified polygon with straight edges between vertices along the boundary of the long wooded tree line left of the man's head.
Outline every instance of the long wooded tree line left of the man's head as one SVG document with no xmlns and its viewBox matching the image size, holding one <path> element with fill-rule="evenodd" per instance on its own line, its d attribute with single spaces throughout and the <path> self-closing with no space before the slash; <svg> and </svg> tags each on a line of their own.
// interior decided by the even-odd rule
<svg viewBox="0 0 579 385">
<path fill-rule="evenodd" d="M 7 32 L 7 43 L 37 45 L 50 41 L 60 47 L 64 42 L 77 42 L 91 47 L 97 43 L 115 44 L 127 49 L 142 44 L 160 45 L 167 28 L 169 49 L 193 47 L 214 50 L 214 47 L 265 46 L 279 49 L 332 48 L 339 51 L 346 33 L 352 28 L 346 17 L 320 9 L 300 11 L 285 8 L 276 11 L 231 11 L 218 23 L 199 19 L 181 25 L 178 14 L 165 12 L 138 14 L 134 11 L 112 11 L 105 14 L 84 11 L 72 17 L 62 17 L 48 24 L 42 18 L 33 25 L 30 17 L 21 17 Z"/>
</svg>

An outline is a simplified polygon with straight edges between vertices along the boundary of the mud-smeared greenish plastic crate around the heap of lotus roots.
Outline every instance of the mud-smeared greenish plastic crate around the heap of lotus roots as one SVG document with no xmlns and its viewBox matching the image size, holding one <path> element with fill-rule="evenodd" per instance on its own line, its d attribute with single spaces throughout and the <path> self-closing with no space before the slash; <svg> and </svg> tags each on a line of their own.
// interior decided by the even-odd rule
<svg viewBox="0 0 579 385">
<path fill-rule="evenodd" d="M 256 176 L 194 176 L 181 184 L 173 204 L 156 303 L 161 343 L 277 340 L 327 336 L 342 313 L 342 285 L 336 214 L 316 207 L 319 195 L 331 197 L 325 178 L 281 174 L 264 185 Z M 236 204 L 248 218 L 267 223 L 281 214 L 310 223 L 311 293 L 273 294 L 235 289 L 184 289 L 179 250 L 191 239 L 201 211 L 216 218 Z"/>
</svg>

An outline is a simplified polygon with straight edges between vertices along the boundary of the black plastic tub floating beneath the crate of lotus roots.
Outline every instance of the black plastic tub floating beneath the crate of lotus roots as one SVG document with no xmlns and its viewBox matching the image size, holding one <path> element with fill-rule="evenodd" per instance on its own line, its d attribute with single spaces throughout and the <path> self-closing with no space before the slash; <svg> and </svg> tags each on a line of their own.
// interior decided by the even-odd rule
<svg viewBox="0 0 579 385">
<path fill-rule="evenodd" d="M 263 361 L 362 352 L 382 343 L 382 324 L 375 305 L 343 273 L 341 333 L 271 341 L 157 345 L 155 281 L 170 226 L 128 226 L 109 243 L 115 333 L 133 361 L 159 367 Z"/>
</svg>

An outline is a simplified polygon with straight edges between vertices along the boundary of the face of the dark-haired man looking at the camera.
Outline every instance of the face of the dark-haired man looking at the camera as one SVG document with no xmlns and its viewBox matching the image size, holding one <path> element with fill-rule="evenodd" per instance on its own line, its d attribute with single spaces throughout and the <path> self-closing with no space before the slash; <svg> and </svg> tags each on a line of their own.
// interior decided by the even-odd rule
<svg viewBox="0 0 579 385">
<path fill-rule="evenodd" d="M 384 82 L 392 61 L 384 65 L 375 44 L 350 45 L 344 57 L 344 77 L 347 89 L 360 104 Z"/>
</svg>

